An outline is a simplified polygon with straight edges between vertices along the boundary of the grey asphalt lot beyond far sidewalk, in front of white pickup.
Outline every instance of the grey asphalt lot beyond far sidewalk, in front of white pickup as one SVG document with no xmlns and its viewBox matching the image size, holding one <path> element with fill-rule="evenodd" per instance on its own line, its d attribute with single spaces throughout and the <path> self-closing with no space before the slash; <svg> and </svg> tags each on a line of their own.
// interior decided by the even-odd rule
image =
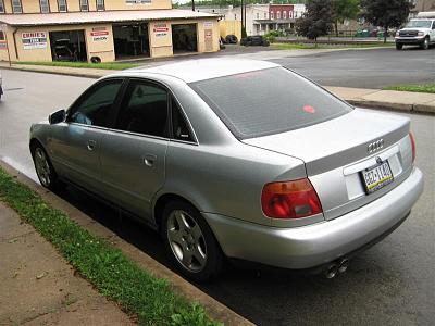
<svg viewBox="0 0 435 326">
<path fill-rule="evenodd" d="M 325 86 L 383 88 L 435 82 L 435 47 L 350 50 L 272 60 Z"/>
</svg>

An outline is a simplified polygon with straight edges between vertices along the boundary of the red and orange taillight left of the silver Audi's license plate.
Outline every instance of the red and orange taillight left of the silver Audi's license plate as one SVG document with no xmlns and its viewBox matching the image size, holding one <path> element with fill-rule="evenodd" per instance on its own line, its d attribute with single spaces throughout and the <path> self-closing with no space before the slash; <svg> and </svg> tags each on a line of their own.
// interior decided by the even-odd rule
<svg viewBox="0 0 435 326">
<path fill-rule="evenodd" d="M 263 213 L 273 218 L 300 218 L 322 213 L 318 193 L 308 178 L 272 183 L 261 193 Z"/>
</svg>

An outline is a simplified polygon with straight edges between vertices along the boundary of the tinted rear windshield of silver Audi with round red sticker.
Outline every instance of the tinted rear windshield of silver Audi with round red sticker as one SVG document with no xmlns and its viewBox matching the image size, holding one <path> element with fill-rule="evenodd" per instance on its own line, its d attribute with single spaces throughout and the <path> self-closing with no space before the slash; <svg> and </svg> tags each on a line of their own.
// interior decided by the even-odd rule
<svg viewBox="0 0 435 326">
<path fill-rule="evenodd" d="M 352 110 L 284 67 L 200 80 L 189 86 L 239 139 L 308 127 Z"/>
</svg>

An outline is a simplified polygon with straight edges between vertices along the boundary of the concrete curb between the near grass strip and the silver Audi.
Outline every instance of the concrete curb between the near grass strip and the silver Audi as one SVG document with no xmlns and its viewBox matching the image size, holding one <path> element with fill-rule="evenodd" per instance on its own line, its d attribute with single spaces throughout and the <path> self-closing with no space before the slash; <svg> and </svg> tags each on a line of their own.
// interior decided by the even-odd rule
<svg viewBox="0 0 435 326">
<path fill-rule="evenodd" d="M 160 264 L 158 261 L 153 260 L 144 251 L 123 240 L 110 229 L 105 228 L 75 206 L 71 205 L 69 202 L 59 198 L 53 192 L 47 190 L 42 186 L 36 184 L 26 175 L 20 173 L 1 160 L 0 166 L 3 167 L 13 177 L 15 177 L 20 183 L 23 183 L 24 185 L 28 186 L 30 189 L 39 193 L 41 198 L 49 202 L 53 208 L 63 211 L 66 215 L 70 216 L 70 218 L 75 221 L 83 228 L 87 229 L 94 235 L 97 235 L 110 241 L 114 247 L 122 250 L 125 255 L 137 263 L 141 268 L 147 269 L 156 277 L 167 279 L 173 285 L 175 291 L 186 297 L 188 300 L 197 301 L 202 304 L 202 306 L 206 309 L 207 314 L 211 318 L 223 322 L 225 325 L 254 325 L 222 304 L 221 302 L 202 292 L 197 287 L 189 284 L 187 280 L 182 278 L 164 265 Z"/>
</svg>

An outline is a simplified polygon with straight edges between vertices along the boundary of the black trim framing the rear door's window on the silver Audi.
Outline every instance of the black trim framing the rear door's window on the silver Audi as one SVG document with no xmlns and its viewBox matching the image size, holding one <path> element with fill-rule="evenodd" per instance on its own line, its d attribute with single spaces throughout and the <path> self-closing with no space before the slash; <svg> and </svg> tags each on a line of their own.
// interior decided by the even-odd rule
<svg viewBox="0 0 435 326">
<path fill-rule="evenodd" d="M 161 136 L 153 136 L 153 135 L 146 135 L 146 134 L 141 134 L 141 133 L 134 133 L 134 131 L 128 131 L 128 130 L 122 130 L 122 129 L 116 129 L 116 121 L 117 117 L 120 115 L 120 112 L 122 110 L 121 108 L 121 103 L 124 100 L 124 97 L 126 95 L 126 90 L 128 88 L 128 86 L 130 85 L 130 82 L 144 82 L 144 83 L 150 83 L 153 84 L 158 87 L 163 88 L 166 91 L 166 96 L 167 96 L 167 105 L 166 105 L 166 110 L 167 110 L 167 120 L 169 120 L 169 137 L 161 137 Z M 123 87 L 123 89 L 121 90 L 121 92 L 119 93 L 120 99 L 119 99 L 119 103 L 116 105 L 116 108 L 113 110 L 113 121 L 109 127 L 109 129 L 111 131 L 114 133 L 120 133 L 120 134 L 127 134 L 127 135 L 133 135 L 133 136 L 139 136 L 139 137 L 145 137 L 145 138 L 151 138 L 151 139 L 161 139 L 161 140 L 169 140 L 169 141 L 176 141 L 176 142 L 183 142 L 183 143 L 188 143 L 188 145 L 198 145 L 198 138 L 196 137 L 196 134 L 192 131 L 194 128 L 191 127 L 190 121 L 187 118 L 186 113 L 184 112 L 183 106 L 181 105 L 178 99 L 174 96 L 174 93 L 172 92 L 172 90 L 163 83 L 154 80 L 154 79 L 150 79 L 150 78 L 144 78 L 144 77 L 126 77 L 125 78 L 125 85 Z M 171 99 L 174 99 L 176 101 L 176 103 L 179 106 L 181 113 L 183 115 L 183 117 L 186 121 L 186 125 L 189 128 L 189 133 L 192 137 L 192 141 L 187 141 L 187 140 L 181 140 L 181 139 L 175 139 L 174 138 L 174 134 L 173 134 L 173 123 L 172 123 L 172 101 Z"/>
</svg>

